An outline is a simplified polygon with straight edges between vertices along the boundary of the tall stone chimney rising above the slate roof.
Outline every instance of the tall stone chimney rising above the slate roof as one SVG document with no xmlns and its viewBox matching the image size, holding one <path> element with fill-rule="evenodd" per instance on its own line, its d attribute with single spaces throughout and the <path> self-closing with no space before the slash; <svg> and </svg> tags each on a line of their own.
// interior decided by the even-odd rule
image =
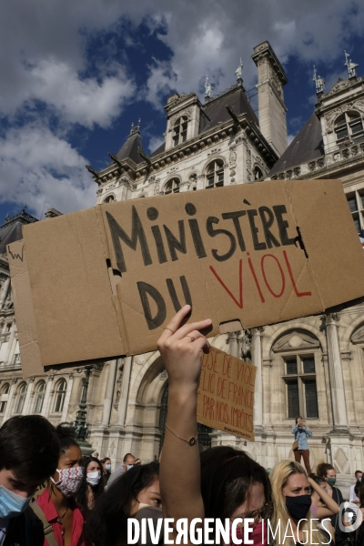
<svg viewBox="0 0 364 546">
<path fill-rule="evenodd" d="M 258 66 L 260 132 L 278 156 L 281 156 L 288 147 L 287 107 L 283 96 L 283 86 L 288 83 L 288 79 L 269 42 L 254 47 L 251 58 Z"/>
</svg>

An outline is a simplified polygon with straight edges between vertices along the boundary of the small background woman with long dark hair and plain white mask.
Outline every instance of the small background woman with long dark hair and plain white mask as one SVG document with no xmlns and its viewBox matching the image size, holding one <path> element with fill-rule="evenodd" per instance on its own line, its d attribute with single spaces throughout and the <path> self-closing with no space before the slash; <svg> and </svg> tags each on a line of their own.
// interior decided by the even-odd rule
<svg viewBox="0 0 364 546">
<path fill-rule="evenodd" d="M 101 462 L 92 456 L 85 457 L 82 466 L 84 477 L 75 499 L 87 513 L 94 508 L 97 497 L 104 492 L 104 469 Z"/>
</svg>

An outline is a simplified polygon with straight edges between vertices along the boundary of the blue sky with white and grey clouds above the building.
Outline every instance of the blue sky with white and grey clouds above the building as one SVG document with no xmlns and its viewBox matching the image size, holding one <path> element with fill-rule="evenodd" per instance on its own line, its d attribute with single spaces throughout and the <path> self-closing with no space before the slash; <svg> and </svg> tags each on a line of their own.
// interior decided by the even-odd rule
<svg viewBox="0 0 364 546">
<path fill-rule="evenodd" d="M 312 65 L 347 78 L 346 49 L 364 74 L 364 3 L 356 0 L 12 0 L 0 5 L 0 222 L 23 205 L 35 217 L 55 207 L 92 207 L 85 165 L 106 167 L 132 122 L 153 151 L 166 128 L 166 97 L 203 98 L 235 83 L 242 57 L 264 40 L 284 66 L 288 135 L 315 104 Z M 254 104 L 253 98 L 253 104 Z M 255 106 L 256 107 L 256 106 Z"/>
</svg>

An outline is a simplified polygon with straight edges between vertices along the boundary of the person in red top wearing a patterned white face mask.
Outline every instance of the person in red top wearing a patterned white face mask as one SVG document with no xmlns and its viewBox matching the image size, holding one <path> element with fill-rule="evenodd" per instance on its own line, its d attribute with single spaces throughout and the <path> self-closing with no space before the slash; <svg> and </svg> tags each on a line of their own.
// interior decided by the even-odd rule
<svg viewBox="0 0 364 546">
<path fill-rule="evenodd" d="M 49 527 L 45 531 L 47 538 L 44 546 L 91 546 L 85 533 L 86 512 L 75 501 L 84 476 L 82 453 L 75 440 L 76 432 L 67 423 L 61 423 L 56 433 L 60 441 L 56 472 L 35 501 L 43 521 Z"/>
</svg>

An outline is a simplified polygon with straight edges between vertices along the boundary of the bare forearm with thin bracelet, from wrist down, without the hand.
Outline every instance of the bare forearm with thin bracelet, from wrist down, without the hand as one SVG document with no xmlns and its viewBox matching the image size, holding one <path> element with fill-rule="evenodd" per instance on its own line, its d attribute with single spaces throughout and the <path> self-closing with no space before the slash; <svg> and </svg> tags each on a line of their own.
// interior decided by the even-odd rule
<svg viewBox="0 0 364 546">
<path fill-rule="evenodd" d="M 166 517 L 193 519 L 202 518 L 204 515 L 198 441 L 195 445 L 188 445 L 184 441 L 197 437 L 196 416 L 196 386 L 180 389 L 171 385 L 167 410 L 167 427 L 170 430 L 166 429 L 160 469 L 162 503 Z"/>
</svg>

